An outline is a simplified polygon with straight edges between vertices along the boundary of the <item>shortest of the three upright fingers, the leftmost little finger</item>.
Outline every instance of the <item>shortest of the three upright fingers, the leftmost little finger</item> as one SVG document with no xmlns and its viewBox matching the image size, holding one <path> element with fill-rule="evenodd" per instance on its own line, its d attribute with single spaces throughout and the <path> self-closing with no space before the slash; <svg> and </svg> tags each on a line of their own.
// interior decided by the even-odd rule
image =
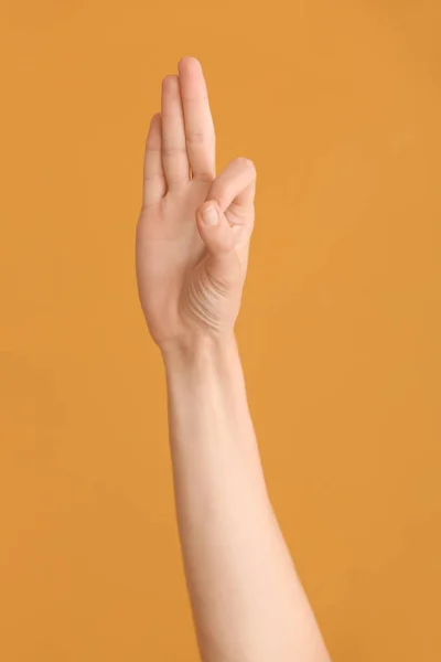
<svg viewBox="0 0 441 662">
<path fill-rule="evenodd" d="M 161 115 L 155 113 L 151 118 L 146 141 L 142 199 L 144 207 L 157 204 L 166 192 L 161 142 Z"/>
</svg>

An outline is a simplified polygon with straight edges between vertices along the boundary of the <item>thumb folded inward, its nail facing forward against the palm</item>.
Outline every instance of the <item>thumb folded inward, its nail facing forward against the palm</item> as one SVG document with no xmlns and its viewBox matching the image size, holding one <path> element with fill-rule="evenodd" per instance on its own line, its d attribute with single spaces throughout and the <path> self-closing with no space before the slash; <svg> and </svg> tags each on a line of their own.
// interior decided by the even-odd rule
<svg viewBox="0 0 441 662">
<path fill-rule="evenodd" d="M 197 229 L 208 253 L 209 275 L 225 284 L 234 282 L 240 264 L 233 229 L 215 200 L 204 202 L 196 211 Z"/>
</svg>

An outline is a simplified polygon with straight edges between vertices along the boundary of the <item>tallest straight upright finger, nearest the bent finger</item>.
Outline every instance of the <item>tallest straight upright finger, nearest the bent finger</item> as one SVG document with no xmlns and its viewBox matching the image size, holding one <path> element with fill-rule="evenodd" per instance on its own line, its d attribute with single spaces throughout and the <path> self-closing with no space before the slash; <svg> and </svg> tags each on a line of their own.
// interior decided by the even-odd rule
<svg viewBox="0 0 441 662">
<path fill-rule="evenodd" d="M 201 63 L 183 57 L 179 64 L 185 142 L 193 178 L 216 177 L 215 130 Z"/>
</svg>

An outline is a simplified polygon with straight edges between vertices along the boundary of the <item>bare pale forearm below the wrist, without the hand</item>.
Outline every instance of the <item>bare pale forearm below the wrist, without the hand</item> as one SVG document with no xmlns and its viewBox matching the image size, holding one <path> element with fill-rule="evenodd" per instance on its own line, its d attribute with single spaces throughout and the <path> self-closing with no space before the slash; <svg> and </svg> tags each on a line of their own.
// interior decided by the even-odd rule
<svg viewBox="0 0 441 662">
<path fill-rule="evenodd" d="M 176 514 L 204 662 L 324 662 L 265 484 L 234 335 L 164 352 Z"/>
</svg>

